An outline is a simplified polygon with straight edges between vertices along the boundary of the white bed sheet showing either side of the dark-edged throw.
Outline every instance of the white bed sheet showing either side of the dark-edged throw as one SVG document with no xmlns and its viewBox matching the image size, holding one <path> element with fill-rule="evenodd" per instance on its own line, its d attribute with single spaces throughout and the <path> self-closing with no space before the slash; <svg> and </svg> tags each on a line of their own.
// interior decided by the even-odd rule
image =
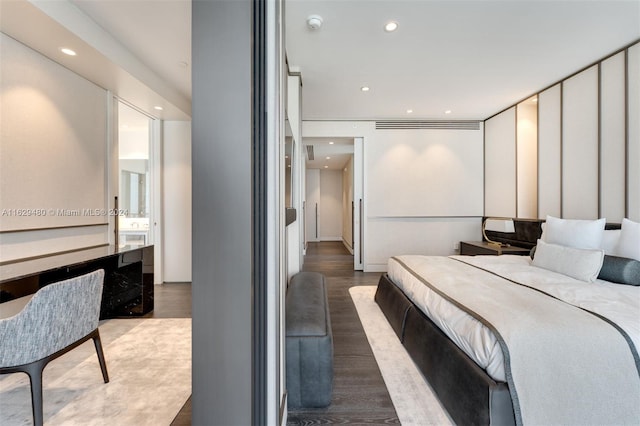
<svg viewBox="0 0 640 426">
<path fill-rule="evenodd" d="M 528 256 L 451 256 L 538 288 L 575 306 L 598 313 L 620 326 L 640 348 L 640 287 L 597 280 L 586 283 L 531 265 Z M 420 274 L 424 256 L 397 256 Z M 394 258 L 387 273 L 421 310 L 462 351 L 494 380 L 506 382 L 502 349 L 493 332 L 482 322 L 424 285 Z"/>
</svg>

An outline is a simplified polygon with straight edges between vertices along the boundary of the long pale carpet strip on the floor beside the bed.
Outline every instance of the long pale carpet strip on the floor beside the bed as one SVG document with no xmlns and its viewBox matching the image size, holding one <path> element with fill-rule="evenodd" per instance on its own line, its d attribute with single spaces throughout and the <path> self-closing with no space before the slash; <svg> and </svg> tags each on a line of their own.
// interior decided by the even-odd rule
<svg viewBox="0 0 640 426">
<path fill-rule="evenodd" d="M 374 301 L 375 292 L 375 286 L 349 289 L 400 423 L 405 426 L 453 425 Z"/>
</svg>

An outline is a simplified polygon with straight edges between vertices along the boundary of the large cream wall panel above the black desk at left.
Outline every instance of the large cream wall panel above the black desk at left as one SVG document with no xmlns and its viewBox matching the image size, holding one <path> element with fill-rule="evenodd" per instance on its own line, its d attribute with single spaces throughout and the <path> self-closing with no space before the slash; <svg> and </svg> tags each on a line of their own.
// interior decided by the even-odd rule
<svg viewBox="0 0 640 426">
<path fill-rule="evenodd" d="M 0 37 L 0 231 L 106 224 L 106 91 Z"/>
</svg>

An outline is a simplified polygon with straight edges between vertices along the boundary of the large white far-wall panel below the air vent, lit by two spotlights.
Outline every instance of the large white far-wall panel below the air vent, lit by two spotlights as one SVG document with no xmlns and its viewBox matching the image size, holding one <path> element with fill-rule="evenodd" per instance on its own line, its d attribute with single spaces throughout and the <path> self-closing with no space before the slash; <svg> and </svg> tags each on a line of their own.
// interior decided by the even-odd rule
<svg viewBox="0 0 640 426">
<path fill-rule="evenodd" d="M 479 216 L 480 130 L 378 130 L 365 140 L 369 216 Z"/>
</svg>

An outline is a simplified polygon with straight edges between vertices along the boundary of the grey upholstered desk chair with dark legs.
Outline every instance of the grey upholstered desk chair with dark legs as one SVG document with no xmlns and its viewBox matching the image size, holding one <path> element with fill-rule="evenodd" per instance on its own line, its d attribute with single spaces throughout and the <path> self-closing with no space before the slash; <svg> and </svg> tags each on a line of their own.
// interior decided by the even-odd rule
<svg viewBox="0 0 640 426">
<path fill-rule="evenodd" d="M 27 373 L 33 422 L 43 423 L 42 371 L 49 361 L 89 339 L 109 382 L 98 319 L 104 270 L 41 288 L 17 315 L 0 320 L 0 374 Z"/>
</svg>

